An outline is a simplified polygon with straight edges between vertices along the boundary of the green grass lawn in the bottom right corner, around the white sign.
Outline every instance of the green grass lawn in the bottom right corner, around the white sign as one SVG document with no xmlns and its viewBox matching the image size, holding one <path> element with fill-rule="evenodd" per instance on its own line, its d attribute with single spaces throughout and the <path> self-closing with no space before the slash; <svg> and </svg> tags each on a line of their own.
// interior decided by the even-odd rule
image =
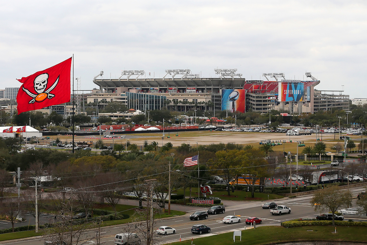
<svg viewBox="0 0 367 245">
<path fill-rule="evenodd" d="M 256 229 L 242 231 L 243 242 L 236 237 L 237 245 L 273 244 L 294 241 L 354 241 L 366 242 L 367 227 L 337 227 L 337 233 L 333 226 L 304 226 L 283 228 L 280 226 L 262 226 Z M 307 231 L 313 230 L 313 231 Z M 215 233 L 215 229 L 211 231 Z M 233 232 L 213 235 L 210 237 L 196 238 L 193 244 L 223 245 L 233 243 Z M 175 242 L 172 245 L 190 245 L 191 239 Z"/>
</svg>

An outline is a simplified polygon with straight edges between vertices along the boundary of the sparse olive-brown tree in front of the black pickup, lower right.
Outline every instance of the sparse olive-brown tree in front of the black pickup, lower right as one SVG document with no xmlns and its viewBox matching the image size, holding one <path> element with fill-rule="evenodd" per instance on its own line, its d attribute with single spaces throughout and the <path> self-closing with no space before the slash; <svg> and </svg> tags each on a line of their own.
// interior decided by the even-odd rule
<svg viewBox="0 0 367 245">
<path fill-rule="evenodd" d="M 349 191 L 340 191 L 338 186 L 333 185 L 331 187 L 316 192 L 316 194 L 310 200 L 310 203 L 320 204 L 315 205 L 315 211 L 324 210 L 324 208 L 329 209 L 331 213 L 333 213 L 334 226 L 335 212 L 338 210 L 338 208 L 352 205 L 352 194 Z"/>
</svg>

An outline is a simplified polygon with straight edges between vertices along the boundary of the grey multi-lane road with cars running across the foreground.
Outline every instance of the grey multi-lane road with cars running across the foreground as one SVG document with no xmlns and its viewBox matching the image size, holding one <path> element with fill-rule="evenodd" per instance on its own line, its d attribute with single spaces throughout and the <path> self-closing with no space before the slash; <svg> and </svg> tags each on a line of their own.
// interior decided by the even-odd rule
<svg viewBox="0 0 367 245">
<path fill-rule="evenodd" d="M 363 187 L 356 187 L 351 189 L 353 197 L 355 198 L 356 195 L 364 190 Z M 291 208 L 291 213 L 283 214 L 280 216 L 271 215 L 269 209 L 262 209 L 261 205 L 264 202 L 239 202 L 239 201 L 225 201 L 226 205 L 226 212 L 223 214 L 218 215 L 209 215 L 208 219 L 203 219 L 199 221 L 191 221 L 189 219 L 189 215 L 194 211 L 190 211 L 184 216 L 176 216 L 168 219 L 158 220 L 157 227 L 159 226 L 171 226 L 177 230 L 176 234 L 170 235 L 157 235 L 157 240 L 160 242 L 174 242 L 179 241 L 181 239 L 191 239 L 191 238 L 198 238 L 198 237 L 205 237 L 208 235 L 215 235 L 219 233 L 229 232 L 234 229 L 244 229 L 245 226 L 249 227 L 250 225 L 245 224 L 245 220 L 247 217 L 259 217 L 262 219 L 262 224 L 257 226 L 277 226 L 280 225 L 281 222 L 292 220 L 292 219 L 299 219 L 305 217 L 315 217 L 315 215 L 319 214 L 320 212 L 316 212 L 314 210 L 315 206 L 310 203 L 310 199 L 312 196 L 305 196 L 305 197 L 298 197 L 287 199 L 283 198 L 279 201 L 276 201 L 278 205 L 287 205 Z M 355 200 L 353 200 L 353 205 L 355 206 Z M 197 210 L 206 210 L 204 208 L 197 209 Z M 326 212 L 327 210 L 325 210 Z M 227 215 L 239 215 L 241 217 L 241 223 L 235 224 L 224 224 L 222 223 L 223 217 Z M 354 219 L 353 220 L 359 220 Z M 361 219 L 366 221 L 365 219 Z M 192 234 L 191 227 L 193 224 L 204 224 L 211 228 L 210 234 Z M 101 228 L 101 241 L 104 241 L 105 245 L 112 245 L 114 244 L 113 240 L 115 234 L 123 233 L 125 225 L 117 225 L 117 226 L 110 226 L 110 227 L 103 227 Z M 95 230 L 88 230 L 84 233 L 84 237 L 88 240 L 87 244 L 95 244 L 96 240 L 92 239 L 95 235 Z M 43 239 L 26 239 L 25 241 L 3 241 L 0 244 L 17 244 L 17 245 L 42 245 L 44 242 Z M 142 242 L 144 244 L 144 242 Z"/>
</svg>

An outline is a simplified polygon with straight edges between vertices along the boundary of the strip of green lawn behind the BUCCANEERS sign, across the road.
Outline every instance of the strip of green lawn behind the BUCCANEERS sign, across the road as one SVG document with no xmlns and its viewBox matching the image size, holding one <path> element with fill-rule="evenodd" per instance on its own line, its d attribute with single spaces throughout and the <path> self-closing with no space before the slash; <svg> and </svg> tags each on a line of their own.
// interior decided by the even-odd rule
<svg viewBox="0 0 367 245">
<path fill-rule="evenodd" d="M 214 188 L 214 187 L 213 187 Z M 172 191 L 172 193 L 176 193 L 176 194 L 181 194 L 183 195 L 183 189 L 178 189 L 175 191 Z M 188 189 L 186 189 L 186 193 L 185 193 L 186 197 L 188 197 L 190 195 L 190 192 Z M 191 193 L 192 197 L 197 197 L 197 189 L 196 188 L 192 188 L 192 193 Z M 268 198 L 269 195 L 269 198 Z M 235 192 L 230 192 L 230 196 L 228 195 L 227 191 L 213 191 L 213 195 L 208 195 L 208 197 L 218 197 L 221 198 L 223 200 L 237 200 L 237 201 L 264 201 L 264 200 L 268 200 L 268 199 L 279 199 L 279 198 L 283 198 L 283 196 L 280 195 L 276 195 L 276 194 L 265 194 L 265 193 L 259 193 L 259 192 L 255 192 L 255 198 L 251 198 L 251 192 L 248 191 L 240 191 L 240 190 L 235 190 Z"/>
</svg>

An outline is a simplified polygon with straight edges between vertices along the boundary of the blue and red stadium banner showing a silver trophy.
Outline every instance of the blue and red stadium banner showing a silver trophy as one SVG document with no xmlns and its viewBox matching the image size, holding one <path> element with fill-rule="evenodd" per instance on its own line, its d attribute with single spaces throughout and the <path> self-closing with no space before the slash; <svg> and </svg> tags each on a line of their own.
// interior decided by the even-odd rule
<svg viewBox="0 0 367 245">
<path fill-rule="evenodd" d="M 245 112 L 244 89 L 222 89 L 222 111 Z"/>
</svg>

